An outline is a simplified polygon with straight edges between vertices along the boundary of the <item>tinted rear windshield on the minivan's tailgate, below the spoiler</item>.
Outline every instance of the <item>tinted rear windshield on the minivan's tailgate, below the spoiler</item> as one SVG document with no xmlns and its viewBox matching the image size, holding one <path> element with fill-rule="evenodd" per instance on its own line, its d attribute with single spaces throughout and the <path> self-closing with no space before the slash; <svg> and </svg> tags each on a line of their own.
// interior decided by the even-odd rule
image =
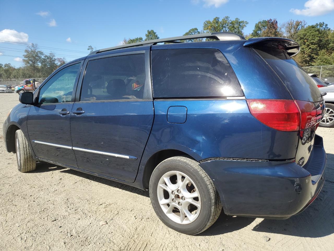
<svg viewBox="0 0 334 251">
<path fill-rule="evenodd" d="M 272 47 L 255 50 L 280 77 L 294 99 L 312 102 L 322 100 L 315 82 L 286 52 Z"/>
</svg>

